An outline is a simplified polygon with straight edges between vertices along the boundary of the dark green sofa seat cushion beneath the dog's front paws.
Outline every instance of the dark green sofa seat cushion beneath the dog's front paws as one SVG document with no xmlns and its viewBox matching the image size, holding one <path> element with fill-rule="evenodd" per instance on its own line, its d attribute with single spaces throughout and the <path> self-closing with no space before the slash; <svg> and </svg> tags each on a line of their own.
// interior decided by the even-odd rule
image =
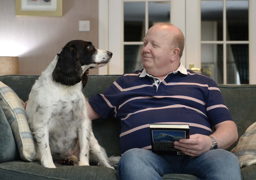
<svg viewBox="0 0 256 180">
<path fill-rule="evenodd" d="M 45 168 L 38 161 L 3 162 L 0 176 L 6 180 L 117 180 L 116 170 L 107 167 L 57 165 L 57 168 Z"/>
</svg>

